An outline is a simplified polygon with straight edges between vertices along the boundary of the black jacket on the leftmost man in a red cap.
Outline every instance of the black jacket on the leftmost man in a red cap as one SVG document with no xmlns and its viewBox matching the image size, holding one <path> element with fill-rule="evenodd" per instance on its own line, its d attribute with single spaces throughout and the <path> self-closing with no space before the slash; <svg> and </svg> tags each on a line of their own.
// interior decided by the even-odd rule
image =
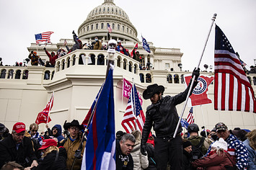
<svg viewBox="0 0 256 170">
<path fill-rule="evenodd" d="M 26 161 L 27 160 L 27 161 Z M 0 142 L 0 169 L 6 162 L 15 161 L 22 166 L 31 166 L 32 161 L 37 160 L 32 148 L 32 140 L 24 137 L 17 150 L 16 143 L 9 135 Z"/>
</svg>

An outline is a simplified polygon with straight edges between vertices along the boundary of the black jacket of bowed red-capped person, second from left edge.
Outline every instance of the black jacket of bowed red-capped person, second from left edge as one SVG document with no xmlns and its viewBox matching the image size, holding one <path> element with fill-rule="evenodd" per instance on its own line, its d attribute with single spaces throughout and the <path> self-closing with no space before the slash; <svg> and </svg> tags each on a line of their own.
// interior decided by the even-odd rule
<svg viewBox="0 0 256 170">
<path fill-rule="evenodd" d="M 43 161 L 39 162 L 38 166 L 34 166 L 32 170 L 66 170 L 66 149 L 63 147 L 59 149 L 56 161 L 57 151 L 52 151 L 43 158 Z"/>
</svg>

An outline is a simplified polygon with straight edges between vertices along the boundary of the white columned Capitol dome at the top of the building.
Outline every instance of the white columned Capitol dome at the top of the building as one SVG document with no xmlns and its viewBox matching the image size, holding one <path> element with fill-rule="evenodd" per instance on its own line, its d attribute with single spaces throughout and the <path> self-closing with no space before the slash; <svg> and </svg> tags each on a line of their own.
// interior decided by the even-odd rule
<svg viewBox="0 0 256 170">
<path fill-rule="evenodd" d="M 99 39 L 107 40 L 107 24 L 112 27 L 110 37 L 115 40 L 136 41 L 137 30 L 131 23 L 128 15 L 113 0 L 105 0 L 104 3 L 89 12 L 87 19 L 78 29 L 79 39 Z"/>
</svg>

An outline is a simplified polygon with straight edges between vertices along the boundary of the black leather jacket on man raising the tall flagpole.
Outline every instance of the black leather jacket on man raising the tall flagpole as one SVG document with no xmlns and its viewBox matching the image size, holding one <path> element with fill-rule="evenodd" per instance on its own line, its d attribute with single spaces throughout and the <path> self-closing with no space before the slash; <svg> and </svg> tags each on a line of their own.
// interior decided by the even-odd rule
<svg viewBox="0 0 256 170">
<path fill-rule="evenodd" d="M 197 84 L 198 82 L 196 81 L 193 84 L 193 89 Z M 187 89 L 185 89 L 185 91 L 181 92 L 180 94 L 177 94 L 174 97 L 162 97 L 159 102 L 156 104 L 151 104 L 146 109 L 146 121 L 144 123 L 141 139 L 142 144 L 146 145 L 146 141 L 148 140 L 152 126 L 156 132 L 156 138 L 172 138 L 175 133 L 177 122 L 179 121 L 176 105 L 185 101 L 189 88 L 190 84 L 187 86 Z M 180 127 L 177 130 L 177 134 L 181 132 L 182 126 L 180 124 Z"/>
</svg>

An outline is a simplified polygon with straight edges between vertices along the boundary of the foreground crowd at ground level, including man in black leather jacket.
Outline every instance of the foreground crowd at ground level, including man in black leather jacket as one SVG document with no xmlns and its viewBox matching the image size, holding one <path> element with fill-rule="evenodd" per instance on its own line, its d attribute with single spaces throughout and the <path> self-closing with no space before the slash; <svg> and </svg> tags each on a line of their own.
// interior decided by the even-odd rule
<svg viewBox="0 0 256 170">
<path fill-rule="evenodd" d="M 193 76 L 195 81 L 191 79 L 187 89 L 174 97 L 163 97 L 164 86 L 147 86 L 143 97 L 150 99 L 151 105 L 146 109 L 142 133 L 116 133 L 116 169 L 256 169 L 256 129 L 229 130 L 224 122 L 218 122 L 213 130 L 204 129 L 199 135 L 194 123 L 186 132 L 181 124 L 177 126 L 175 106 L 185 101 L 190 86 L 198 84 L 200 70 L 195 69 Z M 84 125 L 73 120 L 63 128 L 46 128 L 39 134 L 37 124 L 26 130 L 23 122 L 17 122 L 9 133 L 0 124 L 0 168 L 81 169 L 87 142 L 82 138 Z"/>
</svg>

